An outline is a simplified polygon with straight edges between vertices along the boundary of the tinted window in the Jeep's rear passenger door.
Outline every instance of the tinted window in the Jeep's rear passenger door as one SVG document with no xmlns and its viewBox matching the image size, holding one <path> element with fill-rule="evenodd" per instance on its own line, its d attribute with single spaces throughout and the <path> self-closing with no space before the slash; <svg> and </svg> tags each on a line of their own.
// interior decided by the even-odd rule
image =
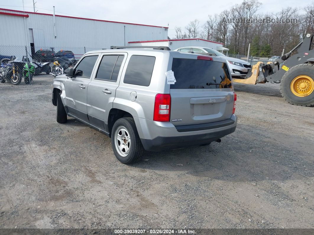
<svg viewBox="0 0 314 235">
<path fill-rule="evenodd" d="M 103 56 L 95 79 L 116 81 L 123 57 L 123 55 Z"/>
</svg>

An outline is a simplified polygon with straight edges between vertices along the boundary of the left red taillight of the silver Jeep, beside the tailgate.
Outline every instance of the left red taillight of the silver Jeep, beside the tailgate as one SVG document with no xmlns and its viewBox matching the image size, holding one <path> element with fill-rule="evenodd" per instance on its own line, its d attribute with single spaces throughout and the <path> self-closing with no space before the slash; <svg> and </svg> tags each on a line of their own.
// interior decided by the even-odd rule
<svg viewBox="0 0 314 235">
<path fill-rule="evenodd" d="M 170 121 L 171 96 L 170 94 L 157 94 L 154 105 L 154 121 Z"/>
</svg>

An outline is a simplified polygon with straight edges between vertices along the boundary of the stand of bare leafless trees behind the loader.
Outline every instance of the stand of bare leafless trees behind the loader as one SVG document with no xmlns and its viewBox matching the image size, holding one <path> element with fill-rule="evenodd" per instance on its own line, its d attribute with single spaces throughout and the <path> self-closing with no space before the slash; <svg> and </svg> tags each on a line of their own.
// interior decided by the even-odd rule
<svg viewBox="0 0 314 235">
<path fill-rule="evenodd" d="M 198 19 L 191 21 L 185 29 L 176 27 L 176 37 L 201 37 L 221 42 L 230 49 L 230 53 L 241 55 L 246 55 L 248 44 L 254 42 L 255 54 L 271 56 L 280 55 L 283 49 L 290 51 L 306 33 L 314 32 L 314 1 L 304 8 L 305 13 L 301 13 L 299 8 L 287 7 L 279 12 L 260 14 L 258 11 L 261 5 L 259 0 L 243 0 L 241 4 L 235 4 L 218 15 L 208 15 L 201 27 Z M 297 19 L 297 22 L 283 24 L 251 21 L 266 18 L 279 21 Z"/>
</svg>

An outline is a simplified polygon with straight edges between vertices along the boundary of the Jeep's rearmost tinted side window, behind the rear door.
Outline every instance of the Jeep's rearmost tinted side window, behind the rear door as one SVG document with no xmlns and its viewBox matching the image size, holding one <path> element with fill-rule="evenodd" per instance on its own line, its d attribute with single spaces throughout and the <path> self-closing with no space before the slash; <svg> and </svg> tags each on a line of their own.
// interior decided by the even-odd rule
<svg viewBox="0 0 314 235">
<path fill-rule="evenodd" d="M 123 82 L 148 87 L 152 78 L 155 59 L 153 56 L 131 56 Z"/>
</svg>

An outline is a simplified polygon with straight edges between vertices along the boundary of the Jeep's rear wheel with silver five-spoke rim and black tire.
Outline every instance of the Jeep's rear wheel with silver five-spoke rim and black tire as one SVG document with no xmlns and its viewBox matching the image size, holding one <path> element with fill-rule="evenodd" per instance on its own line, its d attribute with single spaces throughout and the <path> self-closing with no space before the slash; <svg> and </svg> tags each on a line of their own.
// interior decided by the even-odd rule
<svg viewBox="0 0 314 235">
<path fill-rule="evenodd" d="M 126 134 L 125 131 L 122 131 L 123 129 L 126 130 L 128 134 Z M 122 151 L 117 150 L 119 149 L 118 145 L 119 141 L 117 140 L 119 133 L 122 134 L 121 138 L 126 137 L 127 143 L 124 145 L 124 150 L 127 154 L 125 154 L 125 156 L 123 156 L 120 153 L 120 152 L 123 153 L 123 150 Z M 127 151 L 128 143 L 130 143 L 128 147 L 129 151 Z M 143 153 L 145 152 L 142 142 L 138 136 L 138 131 L 136 129 L 135 122 L 131 117 L 120 118 L 115 122 L 111 132 L 111 144 L 112 150 L 116 155 L 116 158 L 124 164 L 132 164 L 138 162 L 141 159 Z M 120 144 L 122 144 L 121 141 Z"/>
</svg>

